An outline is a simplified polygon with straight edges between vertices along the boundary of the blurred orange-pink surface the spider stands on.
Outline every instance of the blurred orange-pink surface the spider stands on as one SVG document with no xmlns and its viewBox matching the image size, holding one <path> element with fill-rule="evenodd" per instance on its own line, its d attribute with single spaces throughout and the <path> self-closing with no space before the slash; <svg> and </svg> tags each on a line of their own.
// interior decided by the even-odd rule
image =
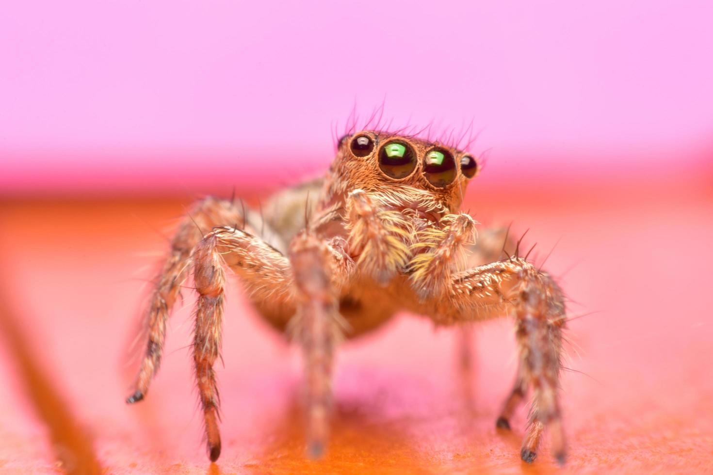
<svg viewBox="0 0 713 475">
<path fill-rule="evenodd" d="M 472 192 L 476 218 L 530 228 L 526 241 L 539 243 L 540 260 L 561 238 L 546 267 L 577 302 L 572 315 L 597 311 L 570 324 L 564 471 L 713 471 L 713 193 L 706 179 Z M 237 290 L 228 296 L 219 368 L 225 442 L 218 464 L 210 466 L 201 442 L 187 346 L 190 292 L 147 400 L 125 405 L 133 371 L 125 348 L 150 276 L 148 254 L 163 251 L 156 229 L 187 203 L 1 204 L 1 473 L 56 473 L 85 450 L 120 474 L 559 470 L 546 444 L 532 466 L 520 461 L 525 410 L 512 434 L 494 427 L 515 372 L 504 319 L 474 331 L 470 376 L 458 371 L 458 335 L 409 315 L 346 345 L 322 461 L 302 456 L 299 353 L 257 320 Z"/>
</svg>

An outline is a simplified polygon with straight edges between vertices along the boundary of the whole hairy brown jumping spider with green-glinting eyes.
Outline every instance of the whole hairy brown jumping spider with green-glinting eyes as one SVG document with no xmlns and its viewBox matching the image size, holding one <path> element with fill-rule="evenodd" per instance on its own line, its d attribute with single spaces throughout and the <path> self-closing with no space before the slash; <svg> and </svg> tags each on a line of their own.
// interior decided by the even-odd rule
<svg viewBox="0 0 713 475">
<path fill-rule="evenodd" d="M 518 373 L 496 424 L 510 428 L 509 419 L 531 387 L 520 455 L 524 461 L 535 459 L 547 427 L 553 454 L 562 463 L 563 293 L 517 252 L 499 259 L 506 233 L 481 231 L 476 243 L 476 221 L 460 207 L 479 168 L 473 155 L 455 147 L 365 130 L 342 137 L 324 179 L 278 193 L 273 199 L 280 205 L 265 207 L 269 212 L 215 198 L 199 202 L 175 234 L 155 283 L 148 345 L 127 402 L 145 397 L 160 363 L 168 315 L 192 273 L 198 291 L 195 377 L 210 460 L 218 458 L 213 364 L 230 268 L 260 315 L 302 346 L 309 455 L 322 454 L 327 442 L 332 360 L 339 341 L 408 310 L 436 325 L 513 315 Z M 204 235 L 201 229 L 210 232 Z"/>
</svg>

